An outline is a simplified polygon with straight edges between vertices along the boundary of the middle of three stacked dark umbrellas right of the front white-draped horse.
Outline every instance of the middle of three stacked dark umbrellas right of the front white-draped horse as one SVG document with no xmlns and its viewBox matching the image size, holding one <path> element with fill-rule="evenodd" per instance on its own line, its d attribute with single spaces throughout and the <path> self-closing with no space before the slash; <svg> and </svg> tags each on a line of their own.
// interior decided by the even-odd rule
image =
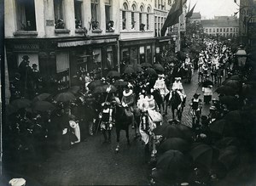
<svg viewBox="0 0 256 186">
<path fill-rule="evenodd" d="M 160 152 L 166 152 L 169 149 L 179 150 L 184 152 L 189 149 L 189 143 L 183 138 L 167 138 L 162 144 L 160 144 Z"/>
</svg>

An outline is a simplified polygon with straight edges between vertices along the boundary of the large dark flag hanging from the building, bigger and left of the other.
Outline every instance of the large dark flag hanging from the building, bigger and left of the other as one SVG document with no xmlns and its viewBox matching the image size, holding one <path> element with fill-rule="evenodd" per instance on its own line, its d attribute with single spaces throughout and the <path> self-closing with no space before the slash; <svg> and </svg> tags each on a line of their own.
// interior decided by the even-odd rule
<svg viewBox="0 0 256 186">
<path fill-rule="evenodd" d="M 176 0 L 169 14 L 166 17 L 166 21 L 161 29 L 161 36 L 165 36 L 167 27 L 175 25 L 178 23 L 179 16 L 183 13 L 183 0 Z"/>
</svg>

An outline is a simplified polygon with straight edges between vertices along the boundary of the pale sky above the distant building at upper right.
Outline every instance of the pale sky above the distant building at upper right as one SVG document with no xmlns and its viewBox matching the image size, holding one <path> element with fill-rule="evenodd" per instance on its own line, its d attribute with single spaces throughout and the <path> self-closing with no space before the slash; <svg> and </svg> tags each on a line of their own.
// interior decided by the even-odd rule
<svg viewBox="0 0 256 186">
<path fill-rule="evenodd" d="M 214 15 L 234 15 L 237 12 L 238 6 L 234 0 L 187 0 L 187 6 L 193 8 L 195 3 L 194 12 L 200 12 L 202 19 L 213 19 Z M 239 2 L 239 1 L 237 1 Z"/>
</svg>

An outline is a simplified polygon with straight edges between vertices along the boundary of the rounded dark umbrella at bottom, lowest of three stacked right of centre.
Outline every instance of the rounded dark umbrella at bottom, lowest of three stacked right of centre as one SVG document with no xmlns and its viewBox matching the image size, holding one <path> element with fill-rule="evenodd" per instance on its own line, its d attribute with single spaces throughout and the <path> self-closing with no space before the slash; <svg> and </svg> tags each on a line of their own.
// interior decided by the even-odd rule
<svg viewBox="0 0 256 186">
<path fill-rule="evenodd" d="M 178 178 L 189 168 L 189 161 L 182 152 L 170 149 L 160 156 L 156 168 Z"/>
</svg>

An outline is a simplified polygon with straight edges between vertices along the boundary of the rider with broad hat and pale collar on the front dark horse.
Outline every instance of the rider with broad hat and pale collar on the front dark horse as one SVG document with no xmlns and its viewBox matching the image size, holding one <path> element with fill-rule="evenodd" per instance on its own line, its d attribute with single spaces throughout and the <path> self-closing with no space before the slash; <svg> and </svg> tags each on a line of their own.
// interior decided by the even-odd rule
<svg viewBox="0 0 256 186">
<path fill-rule="evenodd" d="M 135 104 L 135 96 L 132 91 L 132 87 L 127 85 L 125 86 L 125 90 L 123 91 L 123 97 L 121 99 L 121 104 L 125 107 L 126 116 L 131 117 L 131 127 L 134 128 L 134 104 Z"/>
</svg>

